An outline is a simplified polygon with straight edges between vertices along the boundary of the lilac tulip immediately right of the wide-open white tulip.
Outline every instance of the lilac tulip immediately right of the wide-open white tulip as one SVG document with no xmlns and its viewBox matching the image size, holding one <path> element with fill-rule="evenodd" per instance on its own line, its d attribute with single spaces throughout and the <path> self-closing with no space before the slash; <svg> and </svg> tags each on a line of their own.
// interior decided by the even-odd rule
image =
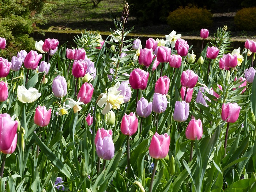
<svg viewBox="0 0 256 192">
<path fill-rule="evenodd" d="M 58 75 L 52 82 L 52 92 L 55 97 L 62 98 L 67 95 L 67 81 L 63 76 Z"/>
</svg>

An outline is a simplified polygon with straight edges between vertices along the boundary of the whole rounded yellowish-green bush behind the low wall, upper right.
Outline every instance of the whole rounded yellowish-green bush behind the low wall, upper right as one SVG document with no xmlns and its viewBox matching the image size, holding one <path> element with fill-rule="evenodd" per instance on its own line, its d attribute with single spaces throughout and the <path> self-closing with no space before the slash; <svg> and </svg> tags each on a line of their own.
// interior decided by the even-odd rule
<svg viewBox="0 0 256 192">
<path fill-rule="evenodd" d="M 170 12 L 167 23 L 172 30 L 193 31 L 212 25 L 212 14 L 206 8 L 180 7 Z"/>
</svg>

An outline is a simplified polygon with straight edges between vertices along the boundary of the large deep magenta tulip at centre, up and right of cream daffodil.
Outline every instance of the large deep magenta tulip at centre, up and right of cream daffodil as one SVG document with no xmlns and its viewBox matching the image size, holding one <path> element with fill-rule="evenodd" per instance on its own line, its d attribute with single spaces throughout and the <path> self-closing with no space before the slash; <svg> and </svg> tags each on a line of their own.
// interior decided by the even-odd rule
<svg viewBox="0 0 256 192">
<path fill-rule="evenodd" d="M 130 74 L 129 83 L 132 89 L 146 89 L 149 73 L 136 68 Z"/>
</svg>

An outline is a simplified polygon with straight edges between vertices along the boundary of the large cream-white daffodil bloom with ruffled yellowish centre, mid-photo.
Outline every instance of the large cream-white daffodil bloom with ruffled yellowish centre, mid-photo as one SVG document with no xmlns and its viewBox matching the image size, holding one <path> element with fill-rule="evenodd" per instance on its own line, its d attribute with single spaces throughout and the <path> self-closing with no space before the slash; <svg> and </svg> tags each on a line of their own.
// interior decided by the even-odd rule
<svg viewBox="0 0 256 192">
<path fill-rule="evenodd" d="M 124 103 L 124 96 L 120 95 L 121 91 L 118 91 L 120 86 L 120 82 L 118 81 L 114 87 L 110 87 L 107 94 L 103 94 L 101 99 L 99 99 L 97 105 L 102 108 L 105 105 L 104 109 L 102 110 L 102 114 L 107 114 L 112 108 L 113 109 L 120 109 L 120 105 Z"/>
</svg>

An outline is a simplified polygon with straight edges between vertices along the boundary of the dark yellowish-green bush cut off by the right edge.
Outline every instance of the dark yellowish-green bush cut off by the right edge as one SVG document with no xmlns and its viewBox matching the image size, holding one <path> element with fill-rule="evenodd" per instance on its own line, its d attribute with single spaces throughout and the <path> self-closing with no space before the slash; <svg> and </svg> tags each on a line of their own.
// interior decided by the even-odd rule
<svg viewBox="0 0 256 192">
<path fill-rule="evenodd" d="M 242 8 L 237 11 L 234 17 L 235 25 L 240 30 L 254 31 L 256 30 L 256 7 Z"/>
</svg>

